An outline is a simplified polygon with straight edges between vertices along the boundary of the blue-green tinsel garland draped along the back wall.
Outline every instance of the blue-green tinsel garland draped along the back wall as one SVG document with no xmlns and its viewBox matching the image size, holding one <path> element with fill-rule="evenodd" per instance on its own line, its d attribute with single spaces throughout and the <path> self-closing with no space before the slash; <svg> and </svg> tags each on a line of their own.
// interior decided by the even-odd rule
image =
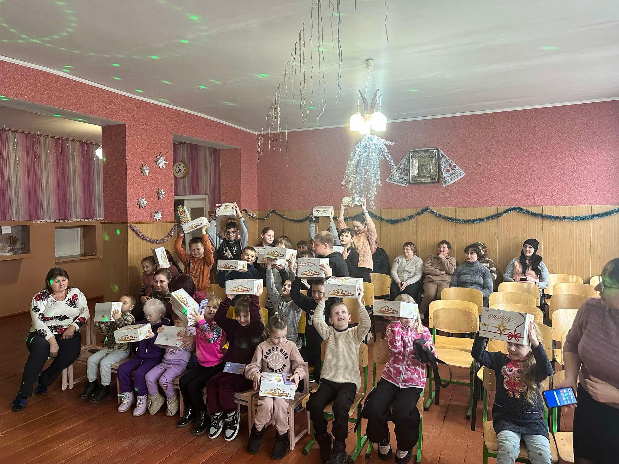
<svg viewBox="0 0 619 464">
<path fill-rule="evenodd" d="M 311 218 L 311 214 L 308 214 L 306 217 L 301 218 L 301 219 L 295 219 L 295 218 L 288 218 L 285 217 L 282 213 L 279 213 L 275 210 L 271 210 L 269 211 L 269 213 L 267 213 L 267 215 L 263 218 L 258 218 L 258 217 L 253 217 L 251 215 L 249 215 L 248 210 L 243 209 L 243 211 L 248 215 L 249 218 L 252 219 L 256 219 L 258 221 L 264 221 L 267 220 L 267 218 L 269 218 L 269 216 L 271 216 L 272 214 L 275 214 L 277 216 L 279 216 L 280 218 L 290 221 L 290 222 L 294 222 L 294 223 L 301 223 L 301 222 L 307 222 L 309 221 L 309 219 Z M 485 218 L 475 218 L 475 219 L 461 219 L 461 218 L 452 218 L 451 216 L 446 216 L 444 214 L 441 214 L 435 210 L 433 210 L 432 208 L 428 208 L 427 206 L 425 208 L 422 208 L 421 210 L 419 210 L 416 213 L 413 213 L 411 215 L 408 215 L 406 217 L 403 218 L 399 218 L 399 219 L 388 219 L 388 218 L 384 218 L 382 216 L 379 216 L 378 214 L 374 214 L 371 211 L 368 211 L 368 213 L 370 214 L 370 216 L 378 221 L 381 222 L 386 222 L 387 224 L 400 224 L 402 222 L 405 221 L 410 221 L 416 217 L 421 216 L 424 213 L 431 213 L 433 215 L 435 215 L 437 218 L 441 218 L 444 219 L 446 221 L 449 222 L 456 222 L 458 224 L 478 224 L 480 222 L 485 222 L 485 221 L 491 221 L 493 219 L 496 218 L 500 218 L 501 216 L 504 216 L 506 214 L 509 214 L 513 211 L 516 211 L 518 213 L 522 213 L 522 214 L 527 214 L 529 216 L 533 216 L 536 218 L 542 218 L 542 219 L 550 219 L 552 221 L 589 221 L 591 219 L 600 219 L 600 218 L 605 218 L 608 216 L 613 216 L 617 213 L 619 213 L 619 208 L 615 208 L 613 210 L 609 210 L 609 211 L 605 211 L 602 213 L 595 213 L 595 214 L 584 214 L 584 215 L 580 215 L 580 216 L 557 216 L 554 214 L 544 214 L 544 213 L 537 213 L 535 211 L 531 211 L 531 210 L 527 210 L 526 208 L 521 208 L 519 206 L 512 206 L 507 208 L 506 210 L 501 211 L 500 213 L 495 213 L 495 214 L 491 214 L 490 216 L 486 216 Z M 350 220 L 352 219 L 352 217 L 345 217 L 344 220 Z"/>
</svg>

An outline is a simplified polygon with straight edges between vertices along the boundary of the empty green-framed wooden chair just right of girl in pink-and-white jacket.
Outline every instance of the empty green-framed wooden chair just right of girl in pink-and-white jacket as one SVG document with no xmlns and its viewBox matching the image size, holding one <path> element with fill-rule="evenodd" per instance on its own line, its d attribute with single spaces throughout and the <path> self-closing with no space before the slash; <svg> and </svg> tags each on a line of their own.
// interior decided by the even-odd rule
<svg viewBox="0 0 619 464">
<path fill-rule="evenodd" d="M 448 366 L 467 367 L 469 369 L 469 382 L 461 380 L 451 380 L 454 385 L 462 385 L 469 387 L 469 410 L 467 411 L 467 419 L 470 419 L 473 410 L 473 390 L 475 384 L 475 372 L 473 370 L 474 361 L 470 355 L 470 350 L 473 347 L 472 338 L 456 338 L 446 337 L 444 335 L 436 335 L 436 331 L 448 333 L 473 333 L 477 334 L 479 330 L 479 307 L 471 301 L 461 301 L 454 299 L 437 299 L 430 303 L 429 310 L 429 327 L 432 329 L 432 340 L 439 353 L 439 357 Z M 427 384 L 433 382 L 433 372 L 428 369 Z M 441 379 L 441 381 L 446 379 Z M 424 409 L 428 411 L 432 402 L 435 400 L 435 392 L 431 391 L 428 395 Z"/>
</svg>

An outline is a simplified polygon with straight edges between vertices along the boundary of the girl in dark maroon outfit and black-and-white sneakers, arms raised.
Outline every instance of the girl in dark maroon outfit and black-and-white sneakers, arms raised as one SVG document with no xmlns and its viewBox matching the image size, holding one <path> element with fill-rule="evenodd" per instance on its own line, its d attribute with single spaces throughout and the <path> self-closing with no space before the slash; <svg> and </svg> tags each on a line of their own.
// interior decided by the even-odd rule
<svg viewBox="0 0 619 464">
<path fill-rule="evenodd" d="M 251 299 L 249 295 L 243 296 L 234 307 L 236 319 L 228 319 L 233 296 L 228 294 L 215 313 L 215 322 L 228 338 L 228 351 L 223 355 L 223 363 L 249 364 L 256 346 L 262 341 L 264 330 L 260 320 L 260 303 L 258 295 L 251 295 Z M 232 372 L 219 372 L 206 383 L 211 420 L 210 439 L 219 436 L 222 430 L 225 440 L 235 439 L 240 415 L 236 410 L 234 394 L 250 388 L 251 382 L 245 376 Z"/>
</svg>

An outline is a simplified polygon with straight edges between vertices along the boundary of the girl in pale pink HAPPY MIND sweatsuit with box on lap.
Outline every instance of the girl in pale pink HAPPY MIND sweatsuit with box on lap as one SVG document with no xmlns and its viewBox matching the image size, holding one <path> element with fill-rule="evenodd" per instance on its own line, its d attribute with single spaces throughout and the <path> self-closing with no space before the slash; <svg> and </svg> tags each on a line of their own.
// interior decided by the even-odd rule
<svg viewBox="0 0 619 464">
<path fill-rule="evenodd" d="M 267 273 L 268 276 L 268 273 Z M 256 348 L 251 364 L 245 368 L 245 377 L 253 380 L 254 389 L 260 385 L 262 372 L 277 372 L 278 374 L 292 374 L 292 380 L 298 386 L 299 380 L 305 377 L 305 362 L 295 343 L 287 340 L 288 325 L 284 317 L 275 313 L 269 318 L 269 339 Z M 264 426 L 275 422 L 275 444 L 271 459 L 281 459 L 288 449 L 288 400 L 286 398 L 258 397 L 258 410 L 251 427 L 247 451 L 258 453 Z M 294 433 L 294 431 L 292 431 Z"/>
</svg>

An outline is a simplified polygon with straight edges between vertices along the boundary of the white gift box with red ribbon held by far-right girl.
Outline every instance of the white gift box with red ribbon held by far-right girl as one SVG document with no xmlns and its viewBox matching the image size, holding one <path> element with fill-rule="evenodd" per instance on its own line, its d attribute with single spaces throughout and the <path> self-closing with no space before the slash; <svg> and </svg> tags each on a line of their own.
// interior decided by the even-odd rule
<svg viewBox="0 0 619 464">
<path fill-rule="evenodd" d="M 503 340 L 503 342 L 530 345 L 529 323 L 534 320 L 533 314 L 526 312 L 504 311 L 493 307 L 482 309 L 482 319 L 479 324 L 480 337 Z"/>
</svg>

